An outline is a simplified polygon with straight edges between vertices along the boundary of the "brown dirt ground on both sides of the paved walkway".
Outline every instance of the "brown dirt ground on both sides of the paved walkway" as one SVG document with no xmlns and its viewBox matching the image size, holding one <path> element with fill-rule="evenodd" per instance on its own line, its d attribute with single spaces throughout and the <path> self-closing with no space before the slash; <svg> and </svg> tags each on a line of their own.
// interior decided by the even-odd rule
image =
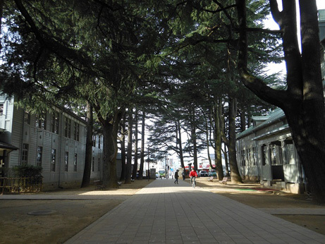
<svg viewBox="0 0 325 244">
<path fill-rule="evenodd" d="M 163 180 L 161 180 L 163 181 Z M 187 179 L 188 181 L 188 179 Z M 151 181 L 135 181 L 122 184 L 118 189 L 59 190 L 46 195 L 87 195 L 78 200 L 3 200 L 0 198 L 0 243 L 64 243 L 109 212 Z M 213 193 L 224 195 L 256 208 L 325 208 L 317 205 L 307 195 L 293 195 L 278 191 L 258 190 L 259 184 L 220 185 L 198 178 L 197 185 Z M 90 196 L 91 195 L 91 196 Z M 99 197 L 106 195 L 105 197 Z M 51 214 L 32 215 L 35 211 L 52 211 Z M 305 228 L 325 235 L 324 215 L 278 215 Z"/>
</svg>

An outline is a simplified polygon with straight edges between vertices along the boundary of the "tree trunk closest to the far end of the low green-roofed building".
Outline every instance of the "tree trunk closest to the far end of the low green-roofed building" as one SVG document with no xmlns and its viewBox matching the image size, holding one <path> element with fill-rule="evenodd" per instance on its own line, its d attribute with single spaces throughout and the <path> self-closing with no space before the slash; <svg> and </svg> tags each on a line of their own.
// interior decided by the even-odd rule
<svg viewBox="0 0 325 244">
<path fill-rule="evenodd" d="M 235 99 L 229 98 L 229 164 L 231 166 L 231 182 L 243 183 L 238 170 L 237 156 L 236 156 L 236 128 L 235 128 Z"/>
</svg>

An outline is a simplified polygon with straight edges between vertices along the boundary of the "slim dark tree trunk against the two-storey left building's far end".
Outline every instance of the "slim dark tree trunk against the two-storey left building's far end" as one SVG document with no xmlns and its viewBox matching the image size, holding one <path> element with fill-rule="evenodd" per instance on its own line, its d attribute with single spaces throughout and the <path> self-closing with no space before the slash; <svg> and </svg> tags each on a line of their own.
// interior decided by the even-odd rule
<svg viewBox="0 0 325 244">
<path fill-rule="evenodd" d="M 85 149 L 85 169 L 83 171 L 81 188 L 90 185 L 90 173 L 92 171 L 92 131 L 94 119 L 92 117 L 92 105 L 87 102 L 87 138 Z"/>
</svg>

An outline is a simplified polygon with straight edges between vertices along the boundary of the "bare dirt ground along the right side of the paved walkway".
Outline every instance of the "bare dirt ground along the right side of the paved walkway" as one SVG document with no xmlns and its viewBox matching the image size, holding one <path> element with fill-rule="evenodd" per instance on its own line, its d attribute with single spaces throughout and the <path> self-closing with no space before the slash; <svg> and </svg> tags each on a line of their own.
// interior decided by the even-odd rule
<svg viewBox="0 0 325 244">
<path fill-rule="evenodd" d="M 245 184 L 233 184 L 228 182 L 227 185 L 221 185 L 218 180 L 214 179 L 209 182 L 208 178 L 198 178 L 197 185 L 213 193 L 218 193 L 229 197 L 235 201 L 241 202 L 250 207 L 259 209 L 325 209 L 325 205 L 318 205 L 312 201 L 309 195 L 297 195 L 286 193 L 279 190 L 262 189 L 259 183 L 247 182 Z M 298 224 L 312 231 L 325 235 L 325 215 L 307 215 L 307 214 L 274 214 L 281 219 L 286 219 L 294 224 Z"/>
</svg>

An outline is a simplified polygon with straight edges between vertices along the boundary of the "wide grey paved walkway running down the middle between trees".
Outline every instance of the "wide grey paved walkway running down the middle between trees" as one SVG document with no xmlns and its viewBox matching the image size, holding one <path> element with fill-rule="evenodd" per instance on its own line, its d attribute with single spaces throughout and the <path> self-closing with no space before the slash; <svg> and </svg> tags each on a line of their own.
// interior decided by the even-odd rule
<svg viewBox="0 0 325 244">
<path fill-rule="evenodd" d="M 153 181 L 66 243 L 325 243 L 325 236 L 259 209 Z"/>
</svg>

